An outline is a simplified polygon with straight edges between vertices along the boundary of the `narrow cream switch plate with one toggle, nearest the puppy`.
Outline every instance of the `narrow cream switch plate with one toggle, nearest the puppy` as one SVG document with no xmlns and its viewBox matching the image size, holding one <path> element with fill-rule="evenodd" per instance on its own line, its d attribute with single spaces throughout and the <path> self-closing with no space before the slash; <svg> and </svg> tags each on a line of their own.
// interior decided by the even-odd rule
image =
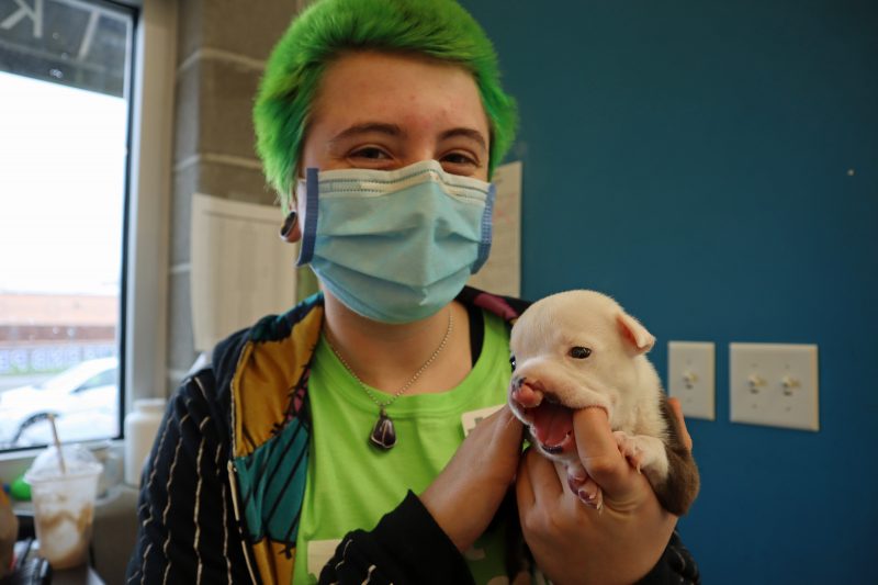
<svg viewBox="0 0 878 585">
<path fill-rule="evenodd" d="M 716 346 L 712 342 L 667 342 L 667 393 L 679 398 L 685 416 L 717 418 Z"/>
</svg>

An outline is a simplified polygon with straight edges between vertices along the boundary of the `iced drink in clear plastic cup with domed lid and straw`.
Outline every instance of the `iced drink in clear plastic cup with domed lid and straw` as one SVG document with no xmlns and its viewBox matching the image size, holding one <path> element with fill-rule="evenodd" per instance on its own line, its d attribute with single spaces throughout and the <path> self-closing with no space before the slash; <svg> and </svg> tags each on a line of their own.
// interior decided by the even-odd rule
<svg viewBox="0 0 878 585">
<path fill-rule="evenodd" d="M 86 449 L 65 446 L 64 470 L 58 450 L 49 447 L 25 474 L 31 484 L 40 555 L 53 569 L 88 561 L 94 499 L 102 465 Z"/>
</svg>

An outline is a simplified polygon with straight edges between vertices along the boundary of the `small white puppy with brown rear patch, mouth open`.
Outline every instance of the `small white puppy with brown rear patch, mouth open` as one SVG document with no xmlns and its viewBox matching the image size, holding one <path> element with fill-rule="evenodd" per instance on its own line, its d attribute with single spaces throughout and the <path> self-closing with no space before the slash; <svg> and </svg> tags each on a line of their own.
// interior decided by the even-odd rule
<svg viewBox="0 0 878 585">
<path fill-rule="evenodd" d="M 573 410 L 604 408 L 628 461 L 642 471 L 662 506 L 683 515 L 698 494 L 698 469 L 652 363 L 655 338 L 616 301 L 567 291 L 531 305 L 513 327 L 509 404 L 531 441 L 563 463 L 571 490 L 603 507 L 600 487 L 583 468 Z"/>
</svg>

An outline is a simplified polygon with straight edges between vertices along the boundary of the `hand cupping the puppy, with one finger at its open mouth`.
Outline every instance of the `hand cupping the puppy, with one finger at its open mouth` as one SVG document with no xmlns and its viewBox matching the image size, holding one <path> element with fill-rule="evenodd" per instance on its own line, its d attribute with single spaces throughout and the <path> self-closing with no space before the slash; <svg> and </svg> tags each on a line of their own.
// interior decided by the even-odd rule
<svg viewBox="0 0 878 585">
<path fill-rule="evenodd" d="M 658 561 L 677 518 L 662 508 L 646 477 L 619 452 L 603 408 L 577 410 L 573 426 L 579 460 L 604 492 L 603 509 L 586 506 L 571 492 L 563 465 L 530 449 L 516 480 L 525 540 L 556 585 L 633 583 Z"/>
</svg>

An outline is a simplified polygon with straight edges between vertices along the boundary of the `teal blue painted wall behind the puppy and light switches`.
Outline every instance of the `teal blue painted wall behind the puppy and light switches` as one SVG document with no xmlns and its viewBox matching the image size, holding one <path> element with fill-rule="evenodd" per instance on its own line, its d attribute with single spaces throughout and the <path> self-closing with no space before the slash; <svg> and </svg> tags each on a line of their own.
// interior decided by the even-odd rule
<svg viewBox="0 0 878 585">
<path fill-rule="evenodd" d="M 464 5 L 521 109 L 524 295 L 615 295 L 663 378 L 717 344 L 705 583 L 878 583 L 878 3 Z M 730 341 L 818 344 L 821 430 L 731 424 Z"/>
</svg>

